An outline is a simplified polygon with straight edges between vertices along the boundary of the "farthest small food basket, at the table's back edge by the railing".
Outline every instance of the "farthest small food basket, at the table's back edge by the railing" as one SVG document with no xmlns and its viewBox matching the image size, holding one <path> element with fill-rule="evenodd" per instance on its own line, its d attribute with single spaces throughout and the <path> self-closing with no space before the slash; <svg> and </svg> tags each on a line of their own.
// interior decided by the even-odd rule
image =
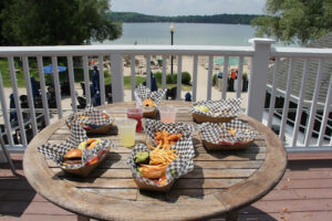
<svg viewBox="0 0 332 221">
<path fill-rule="evenodd" d="M 166 94 L 166 90 L 152 92 L 146 86 L 139 84 L 135 88 L 136 106 L 143 107 L 143 117 L 155 118 L 158 113 L 158 105 Z"/>
</svg>

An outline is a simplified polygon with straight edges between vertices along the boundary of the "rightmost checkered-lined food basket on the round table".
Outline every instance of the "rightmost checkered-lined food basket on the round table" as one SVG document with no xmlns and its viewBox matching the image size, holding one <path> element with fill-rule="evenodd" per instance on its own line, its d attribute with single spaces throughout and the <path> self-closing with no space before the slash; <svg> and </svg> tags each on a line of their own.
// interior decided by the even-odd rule
<svg viewBox="0 0 332 221">
<path fill-rule="evenodd" d="M 203 123 L 198 130 L 201 144 L 207 150 L 245 150 L 257 136 L 257 130 L 240 119 Z"/>
</svg>

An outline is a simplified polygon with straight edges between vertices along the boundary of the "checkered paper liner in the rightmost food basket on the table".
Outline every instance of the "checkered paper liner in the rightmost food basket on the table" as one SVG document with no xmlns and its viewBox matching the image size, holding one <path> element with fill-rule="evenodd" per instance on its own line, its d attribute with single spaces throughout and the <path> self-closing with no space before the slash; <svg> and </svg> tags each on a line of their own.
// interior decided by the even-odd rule
<svg viewBox="0 0 332 221">
<path fill-rule="evenodd" d="M 197 126 L 201 133 L 201 139 L 215 145 L 235 145 L 239 141 L 252 140 L 258 135 L 258 131 L 248 123 L 240 119 L 232 119 L 229 123 L 203 123 Z M 236 130 L 235 136 L 229 133 L 229 129 Z"/>
</svg>

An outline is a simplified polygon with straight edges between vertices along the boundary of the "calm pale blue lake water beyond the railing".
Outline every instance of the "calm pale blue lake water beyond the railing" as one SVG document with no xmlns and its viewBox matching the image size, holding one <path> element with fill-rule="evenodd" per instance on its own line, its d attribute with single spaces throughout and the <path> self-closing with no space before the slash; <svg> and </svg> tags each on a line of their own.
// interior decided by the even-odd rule
<svg viewBox="0 0 332 221">
<path fill-rule="evenodd" d="M 103 44 L 170 44 L 170 23 L 123 23 L 123 35 Z M 241 24 L 174 23 L 174 44 L 250 45 L 255 28 Z M 100 44 L 100 43 L 94 43 Z"/>
</svg>

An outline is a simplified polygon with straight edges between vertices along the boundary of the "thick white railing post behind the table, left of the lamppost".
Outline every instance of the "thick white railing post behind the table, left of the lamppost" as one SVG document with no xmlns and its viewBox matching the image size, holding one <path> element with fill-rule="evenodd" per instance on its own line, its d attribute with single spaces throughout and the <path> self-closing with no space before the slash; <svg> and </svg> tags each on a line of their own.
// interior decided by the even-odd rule
<svg viewBox="0 0 332 221">
<path fill-rule="evenodd" d="M 148 75 L 147 75 L 148 76 Z M 123 61 L 121 54 L 111 55 L 111 77 L 113 102 L 124 101 Z"/>
</svg>

